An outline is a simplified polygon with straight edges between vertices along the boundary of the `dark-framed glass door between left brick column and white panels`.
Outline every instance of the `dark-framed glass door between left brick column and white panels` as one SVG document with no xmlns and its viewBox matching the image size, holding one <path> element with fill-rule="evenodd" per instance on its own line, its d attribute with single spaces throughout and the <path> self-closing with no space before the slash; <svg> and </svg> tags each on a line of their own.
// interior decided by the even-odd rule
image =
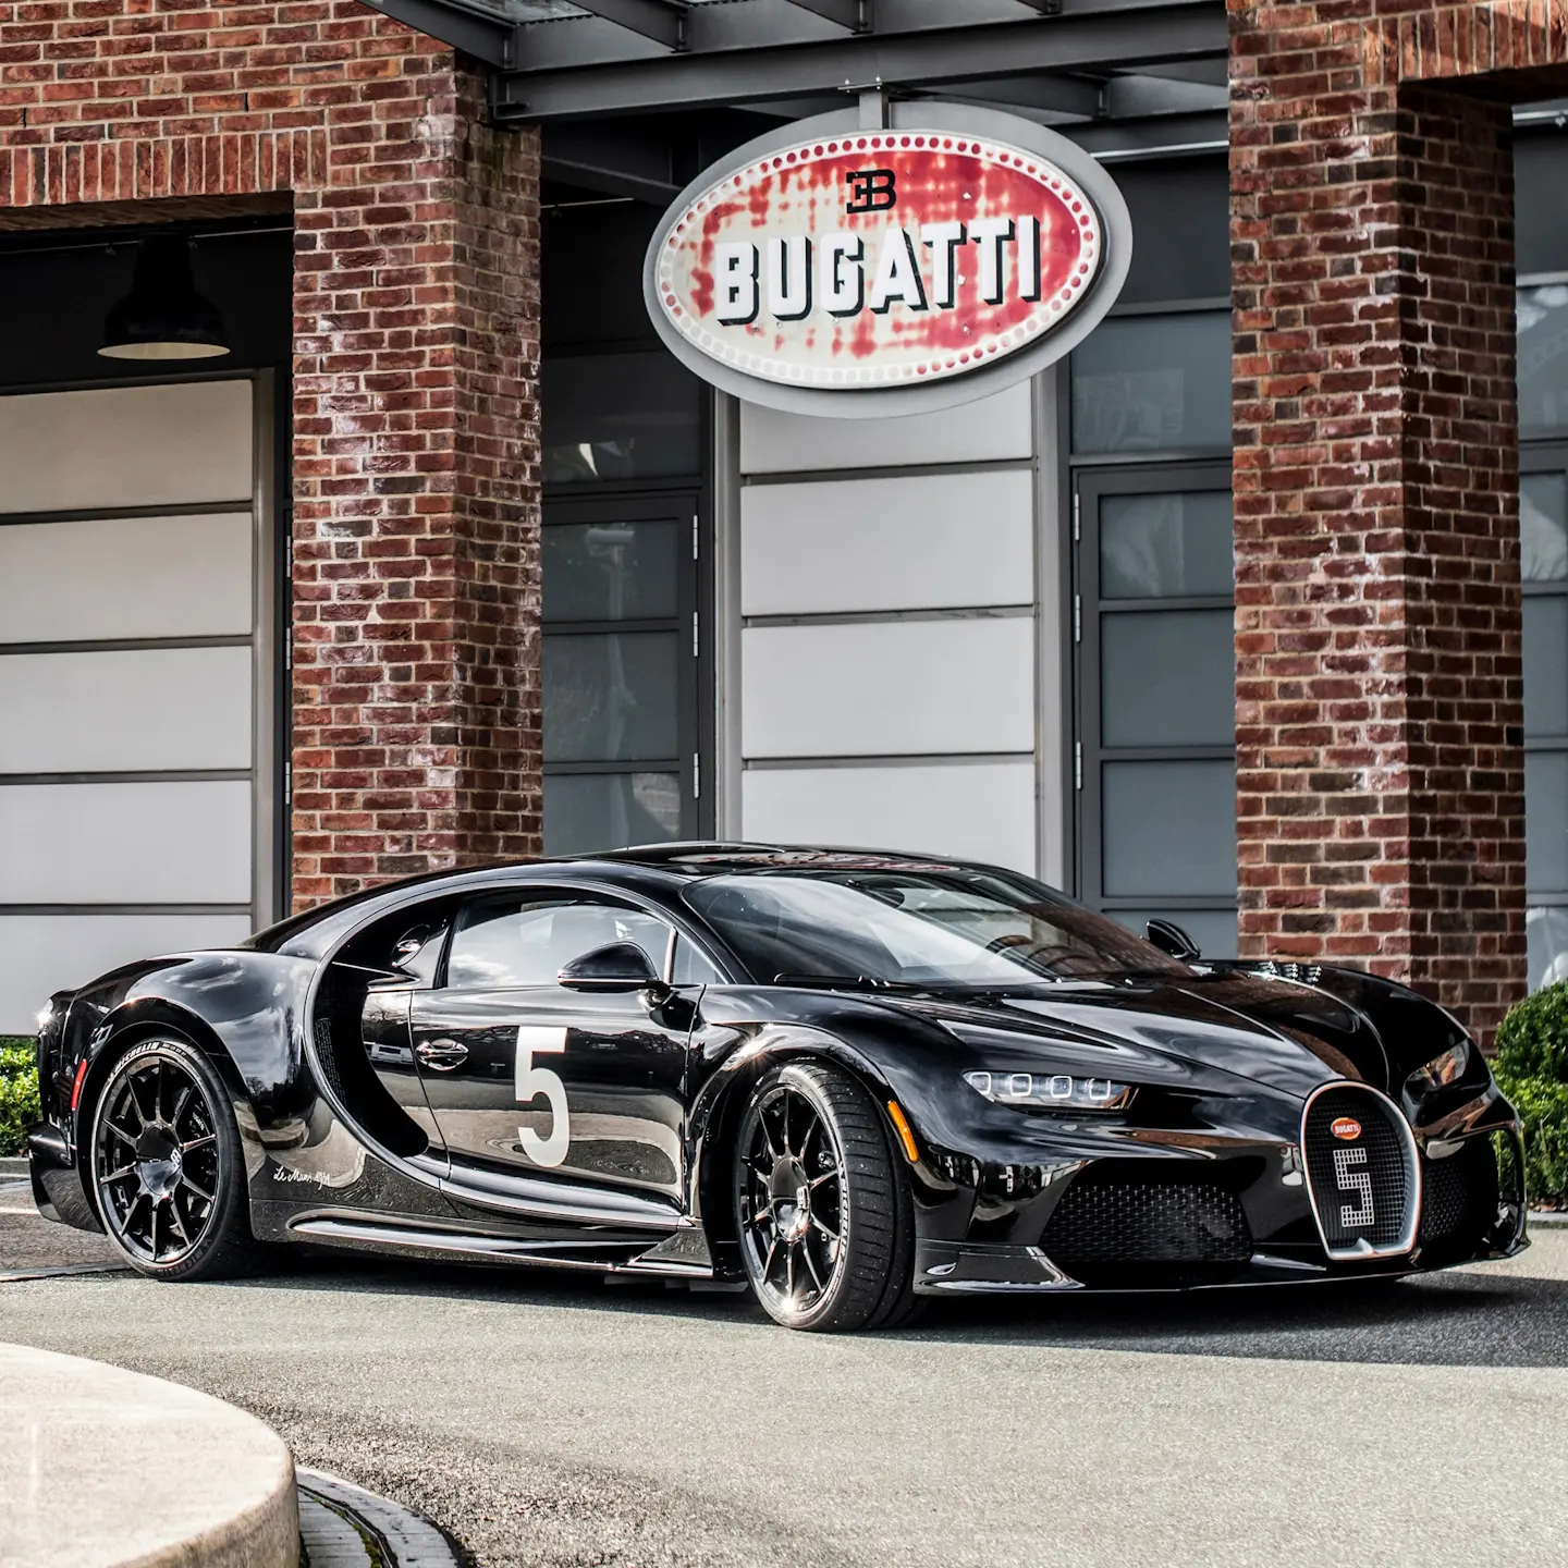
<svg viewBox="0 0 1568 1568">
<path fill-rule="evenodd" d="M 696 491 L 544 505 L 544 851 L 701 834 Z"/>
</svg>

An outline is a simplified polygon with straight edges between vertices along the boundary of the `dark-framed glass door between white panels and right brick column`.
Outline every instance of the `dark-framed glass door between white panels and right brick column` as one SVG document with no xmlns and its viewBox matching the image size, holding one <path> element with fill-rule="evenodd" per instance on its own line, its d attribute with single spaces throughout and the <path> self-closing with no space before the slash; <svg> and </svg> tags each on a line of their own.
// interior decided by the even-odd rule
<svg viewBox="0 0 1568 1568">
<path fill-rule="evenodd" d="M 1080 470 L 1074 494 L 1080 892 L 1236 955 L 1236 566 L 1221 464 Z"/>
</svg>

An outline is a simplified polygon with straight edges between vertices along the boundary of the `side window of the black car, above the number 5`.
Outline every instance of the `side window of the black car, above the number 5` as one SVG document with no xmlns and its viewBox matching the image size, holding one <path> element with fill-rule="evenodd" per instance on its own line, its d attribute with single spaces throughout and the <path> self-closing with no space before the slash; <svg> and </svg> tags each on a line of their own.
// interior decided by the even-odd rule
<svg viewBox="0 0 1568 1568">
<path fill-rule="evenodd" d="M 453 991 L 555 985 L 564 964 L 610 942 L 635 942 L 665 972 L 671 928 L 624 905 L 582 898 L 486 898 L 458 917 L 447 955 Z"/>
</svg>

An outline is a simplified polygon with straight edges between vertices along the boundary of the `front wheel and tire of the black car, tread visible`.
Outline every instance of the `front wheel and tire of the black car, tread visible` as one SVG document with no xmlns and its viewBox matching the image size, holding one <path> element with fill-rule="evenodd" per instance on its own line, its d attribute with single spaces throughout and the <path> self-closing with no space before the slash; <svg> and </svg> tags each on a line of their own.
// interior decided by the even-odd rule
<svg viewBox="0 0 1568 1568">
<path fill-rule="evenodd" d="M 776 1323 L 848 1333 L 908 1312 L 908 1178 L 875 1101 L 847 1073 L 789 1062 L 757 1080 L 732 1192 L 746 1278 Z"/>
</svg>

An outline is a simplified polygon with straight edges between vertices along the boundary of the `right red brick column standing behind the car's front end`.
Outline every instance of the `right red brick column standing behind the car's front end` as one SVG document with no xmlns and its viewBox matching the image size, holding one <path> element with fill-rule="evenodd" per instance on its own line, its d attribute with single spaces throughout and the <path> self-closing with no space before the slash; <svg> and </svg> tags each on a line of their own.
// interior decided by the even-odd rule
<svg viewBox="0 0 1568 1568">
<path fill-rule="evenodd" d="M 1231 9 L 1242 952 L 1490 1035 L 1524 991 L 1512 125 L 1400 80 L 1438 8 L 1389 9 Z"/>
</svg>

